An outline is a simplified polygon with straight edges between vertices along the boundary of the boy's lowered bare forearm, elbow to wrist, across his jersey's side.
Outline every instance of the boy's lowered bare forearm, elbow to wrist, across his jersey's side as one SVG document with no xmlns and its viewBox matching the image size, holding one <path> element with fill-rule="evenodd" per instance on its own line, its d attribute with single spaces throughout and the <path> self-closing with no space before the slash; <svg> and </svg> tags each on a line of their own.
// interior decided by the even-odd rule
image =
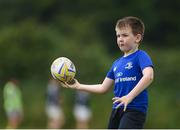
<svg viewBox="0 0 180 130">
<path fill-rule="evenodd" d="M 138 82 L 138 84 L 127 96 L 133 100 L 144 89 L 146 89 L 151 84 L 152 81 L 153 81 L 153 78 L 151 76 L 143 76 L 141 80 Z"/>
</svg>

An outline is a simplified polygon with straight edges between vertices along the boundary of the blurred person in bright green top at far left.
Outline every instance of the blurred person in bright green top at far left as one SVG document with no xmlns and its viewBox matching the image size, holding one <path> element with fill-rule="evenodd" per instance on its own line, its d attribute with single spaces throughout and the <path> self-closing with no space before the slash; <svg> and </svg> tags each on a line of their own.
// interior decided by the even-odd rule
<svg viewBox="0 0 180 130">
<path fill-rule="evenodd" d="M 4 109 L 6 111 L 8 129 L 16 129 L 23 119 L 22 94 L 17 79 L 12 78 L 8 81 L 3 90 Z"/>
</svg>

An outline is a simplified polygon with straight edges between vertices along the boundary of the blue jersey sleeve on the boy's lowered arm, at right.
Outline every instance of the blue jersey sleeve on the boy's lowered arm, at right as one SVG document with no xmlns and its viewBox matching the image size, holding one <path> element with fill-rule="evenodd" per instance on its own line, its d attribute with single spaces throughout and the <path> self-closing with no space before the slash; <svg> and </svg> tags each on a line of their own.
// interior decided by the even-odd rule
<svg viewBox="0 0 180 130">
<path fill-rule="evenodd" d="M 143 71 L 143 69 L 146 67 L 153 67 L 152 60 L 146 52 L 141 51 L 141 53 L 139 53 L 138 58 L 139 58 L 139 65 L 140 65 L 141 71 Z"/>
</svg>

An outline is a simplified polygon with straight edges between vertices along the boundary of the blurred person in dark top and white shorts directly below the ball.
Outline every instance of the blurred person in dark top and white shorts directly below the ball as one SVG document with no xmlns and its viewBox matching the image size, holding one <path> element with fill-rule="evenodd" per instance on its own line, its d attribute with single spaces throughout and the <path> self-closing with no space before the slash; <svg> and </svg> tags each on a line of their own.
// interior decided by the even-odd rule
<svg viewBox="0 0 180 130">
<path fill-rule="evenodd" d="M 46 115 L 48 129 L 60 129 L 64 125 L 64 113 L 61 107 L 60 87 L 56 80 L 51 78 L 47 85 Z"/>
</svg>

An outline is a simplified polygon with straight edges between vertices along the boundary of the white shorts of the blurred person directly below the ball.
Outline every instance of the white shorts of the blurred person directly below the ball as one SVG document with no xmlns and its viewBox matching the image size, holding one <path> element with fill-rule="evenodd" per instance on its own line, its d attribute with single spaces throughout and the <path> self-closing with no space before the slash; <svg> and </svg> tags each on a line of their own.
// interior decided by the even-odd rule
<svg viewBox="0 0 180 130">
<path fill-rule="evenodd" d="M 48 116 L 48 118 L 51 118 L 51 119 L 60 119 L 63 117 L 63 111 L 60 107 L 57 107 L 57 106 L 53 106 L 53 105 L 50 105 L 50 106 L 47 106 L 46 107 L 46 114 Z"/>
</svg>

